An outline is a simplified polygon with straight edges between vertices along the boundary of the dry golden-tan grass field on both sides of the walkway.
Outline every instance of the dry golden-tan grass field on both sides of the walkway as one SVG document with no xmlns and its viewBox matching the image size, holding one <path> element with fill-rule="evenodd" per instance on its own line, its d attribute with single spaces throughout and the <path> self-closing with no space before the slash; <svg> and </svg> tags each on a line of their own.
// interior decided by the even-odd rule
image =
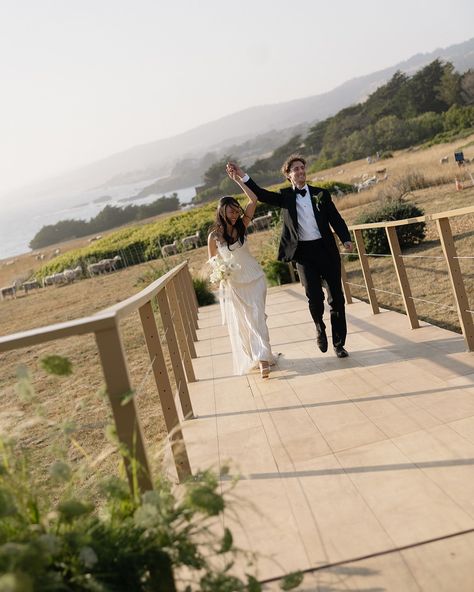
<svg viewBox="0 0 474 592">
<path fill-rule="evenodd" d="M 363 175 L 372 176 L 376 170 L 386 169 L 388 178 L 372 189 L 357 195 L 338 199 L 338 207 L 346 221 L 352 223 L 361 210 L 379 199 L 384 187 L 403 178 L 410 171 L 422 173 L 425 178 L 436 183 L 433 187 L 415 190 L 413 199 L 426 213 L 456 209 L 474 204 L 474 187 L 469 176 L 463 173 L 465 189 L 456 191 L 454 177 L 459 176 L 457 165 L 453 163 L 453 152 L 460 145 L 474 141 L 474 136 L 457 142 L 444 144 L 427 150 L 404 151 L 396 153 L 394 158 L 368 164 L 366 161 L 353 162 L 337 169 L 318 173 L 313 179 L 340 179 L 354 182 Z M 474 158 L 474 144 L 464 150 L 465 156 Z M 440 164 L 442 156 L 449 155 L 448 164 Z M 473 165 L 474 168 L 474 165 Z M 385 173 L 384 173 L 385 174 Z M 470 186 L 469 186 L 470 185 Z M 458 254 L 464 257 L 474 256 L 474 216 L 456 218 L 453 223 Z M 270 232 L 254 233 L 251 236 L 251 248 L 258 256 L 262 246 L 270 239 Z M 87 239 L 63 243 L 58 247 L 62 252 L 87 244 Z M 56 246 L 50 247 L 52 252 Z M 406 259 L 408 274 L 412 282 L 413 295 L 429 302 L 416 301 L 420 316 L 454 330 L 459 330 L 456 314 L 451 310 L 453 298 L 437 240 L 435 225 L 427 228 L 426 241 L 408 253 L 423 258 Z M 180 262 L 183 256 L 170 258 L 169 262 Z M 202 247 L 187 255 L 192 274 L 207 275 L 205 261 L 206 248 Z M 31 254 L 14 258 L 13 262 L 0 262 L 0 285 L 8 285 L 15 278 L 28 276 L 41 265 Z M 380 290 L 378 297 L 381 306 L 401 308 L 400 297 L 393 295 L 398 290 L 393 267 L 387 258 L 370 258 L 374 272 L 375 287 Z M 140 289 L 140 279 L 150 269 L 160 265 L 150 262 L 129 267 L 105 276 L 75 282 L 71 285 L 52 286 L 36 290 L 27 296 L 19 295 L 16 299 L 0 301 L 0 335 L 31 329 L 50 323 L 56 323 L 81 316 L 90 315 L 113 303 L 124 300 Z M 358 261 L 346 262 L 349 281 L 363 284 Z M 474 307 L 474 259 L 462 259 L 461 267 L 470 294 L 471 309 Z M 365 298 L 365 290 L 352 286 L 353 295 Z M 439 305 L 430 302 L 439 303 Z M 122 334 L 126 348 L 132 384 L 136 389 L 136 400 L 140 411 L 149 450 L 153 458 L 152 466 L 159 463 L 160 441 L 164 434 L 159 399 L 149 372 L 148 354 L 139 325 L 138 315 L 123 323 Z M 67 356 L 73 363 L 74 373 L 70 377 L 51 377 L 40 368 L 39 361 L 45 355 L 60 354 Z M 20 365 L 26 366 L 32 376 L 37 402 L 19 397 L 16 388 L 16 371 Z M 63 427 L 73 430 L 74 445 L 69 447 L 71 459 L 88 458 L 98 471 L 115 470 L 117 456 L 113 447 L 104 436 L 104 427 L 110 420 L 106 400 L 99 394 L 102 387 L 102 375 L 98 354 L 92 337 L 77 337 L 51 342 L 42 346 L 26 348 L 0 355 L 0 433 L 16 437 L 21 444 L 32 449 L 38 466 L 45 467 L 54 447 L 64 439 Z M 37 413 L 37 405 L 43 407 L 43 415 Z M 73 428 L 71 428 L 71 423 Z"/>
</svg>

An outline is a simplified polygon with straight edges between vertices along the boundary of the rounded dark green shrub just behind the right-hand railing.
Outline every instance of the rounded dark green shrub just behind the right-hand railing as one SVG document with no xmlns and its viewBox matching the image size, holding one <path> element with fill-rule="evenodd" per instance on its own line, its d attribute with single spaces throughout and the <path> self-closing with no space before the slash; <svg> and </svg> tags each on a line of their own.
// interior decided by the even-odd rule
<svg viewBox="0 0 474 592">
<path fill-rule="evenodd" d="M 386 201 L 381 207 L 362 213 L 355 220 L 355 224 L 405 220 L 407 218 L 423 216 L 423 214 L 423 210 L 416 204 L 397 199 Z M 397 236 L 400 247 L 403 249 L 420 244 L 425 238 L 425 226 L 424 222 L 397 226 Z M 362 235 L 364 237 L 364 245 L 367 253 L 390 253 L 390 246 L 384 228 L 363 230 Z"/>
</svg>

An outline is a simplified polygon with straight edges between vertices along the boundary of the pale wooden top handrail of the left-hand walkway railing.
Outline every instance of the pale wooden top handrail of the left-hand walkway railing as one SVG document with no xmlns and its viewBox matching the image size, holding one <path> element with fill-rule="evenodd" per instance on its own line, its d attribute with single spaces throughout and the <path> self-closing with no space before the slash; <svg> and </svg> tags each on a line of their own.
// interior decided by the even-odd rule
<svg viewBox="0 0 474 592">
<path fill-rule="evenodd" d="M 138 294 L 134 294 L 122 302 L 99 310 L 94 315 L 81 317 L 72 321 L 56 323 L 54 325 L 45 325 L 37 327 L 36 329 L 29 329 L 28 331 L 20 331 L 18 333 L 11 333 L 10 335 L 0 337 L 0 352 L 38 345 L 40 343 L 64 337 L 74 337 L 76 335 L 84 335 L 109 329 L 116 324 L 117 319 L 128 316 L 132 312 L 138 310 L 143 304 L 149 302 L 186 265 L 187 262 L 184 261 L 138 292 Z"/>
</svg>

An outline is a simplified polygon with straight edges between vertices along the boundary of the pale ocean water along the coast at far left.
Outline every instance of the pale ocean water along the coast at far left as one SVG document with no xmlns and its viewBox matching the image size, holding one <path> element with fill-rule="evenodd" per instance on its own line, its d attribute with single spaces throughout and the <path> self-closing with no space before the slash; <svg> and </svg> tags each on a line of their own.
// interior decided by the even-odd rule
<svg viewBox="0 0 474 592">
<path fill-rule="evenodd" d="M 28 253 L 30 251 L 28 243 L 47 224 L 55 224 L 60 220 L 90 220 L 106 205 L 122 207 L 131 204 L 143 205 L 151 203 L 163 195 L 170 196 L 173 193 L 168 191 L 149 195 L 143 199 L 119 201 L 136 195 L 154 180 L 156 179 L 114 187 L 100 187 L 68 198 L 69 204 L 79 205 L 63 205 L 61 207 L 61 201 L 58 199 L 49 202 L 41 201 L 41 203 L 33 202 L 27 205 L 15 202 L 2 203 L 0 209 L 0 259 L 9 259 L 22 253 Z M 196 194 L 194 187 L 177 189 L 175 192 L 178 194 L 181 204 L 190 203 Z M 111 199 L 94 203 L 94 200 L 103 196 L 109 196 Z"/>
</svg>

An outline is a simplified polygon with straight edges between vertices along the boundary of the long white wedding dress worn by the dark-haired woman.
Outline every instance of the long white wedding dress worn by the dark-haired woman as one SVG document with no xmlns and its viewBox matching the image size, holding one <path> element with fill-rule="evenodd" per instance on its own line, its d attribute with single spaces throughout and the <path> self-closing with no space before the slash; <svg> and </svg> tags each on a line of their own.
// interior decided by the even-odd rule
<svg viewBox="0 0 474 592">
<path fill-rule="evenodd" d="M 260 360 L 274 362 L 265 314 L 267 283 L 247 239 L 230 247 L 217 241 L 217 248 L 224 261 L 232 259 L 238 267 L 221 282 L 219 297 L 223 322 L 229 329 L 234 374 L 245 374 Z"/>
</svg>

